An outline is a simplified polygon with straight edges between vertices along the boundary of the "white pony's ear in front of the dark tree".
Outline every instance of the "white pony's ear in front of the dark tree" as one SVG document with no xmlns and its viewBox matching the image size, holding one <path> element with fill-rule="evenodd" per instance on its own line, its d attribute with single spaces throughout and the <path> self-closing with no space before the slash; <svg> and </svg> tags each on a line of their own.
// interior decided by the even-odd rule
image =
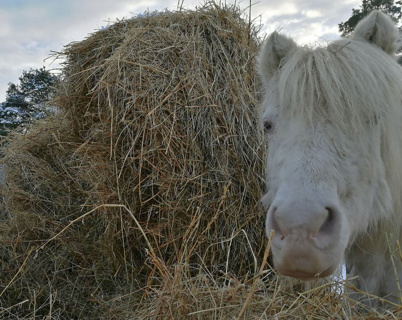
<svg viewBox="0 0 402 320">
<path fill-rule="evenodd" d="M 395 23 L 389 16 L 376 10 L 357 24 L 351 38 L 374 43 L 391 55 L 398 49 L 399 34 Z"/>
</svg>

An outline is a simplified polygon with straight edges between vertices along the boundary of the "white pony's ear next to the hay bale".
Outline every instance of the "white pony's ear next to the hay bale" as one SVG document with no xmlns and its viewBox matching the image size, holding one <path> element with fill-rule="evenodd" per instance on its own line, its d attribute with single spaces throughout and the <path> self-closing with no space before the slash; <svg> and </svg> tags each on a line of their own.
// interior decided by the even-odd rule
<svg viewBox="0 0 402 320">
<path fill-rule="evenodd" d="M 290 38 L 273 32 L 263 44 L 257 58 L 257 67 L 261 79 L 267 83 L 278 71 L 281 61 L 297 48 Z"/>
</svg>

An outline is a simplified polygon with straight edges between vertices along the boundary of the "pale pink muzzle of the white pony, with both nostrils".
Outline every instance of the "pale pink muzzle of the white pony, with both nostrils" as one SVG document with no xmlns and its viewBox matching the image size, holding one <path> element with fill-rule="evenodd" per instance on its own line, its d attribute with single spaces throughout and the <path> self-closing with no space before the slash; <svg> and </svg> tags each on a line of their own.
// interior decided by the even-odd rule
<svg viewBox="0 0 402 320">
<path fill-rule="evenodd" d="M 341 228 L 336 206 L 309 202 L 273 203 L 268 211 L 267 232 L 274 230 L 275 267 L 300 279 L 328 276 L 336 268 L 331 250 L 337 247 Z"/>
</svg>

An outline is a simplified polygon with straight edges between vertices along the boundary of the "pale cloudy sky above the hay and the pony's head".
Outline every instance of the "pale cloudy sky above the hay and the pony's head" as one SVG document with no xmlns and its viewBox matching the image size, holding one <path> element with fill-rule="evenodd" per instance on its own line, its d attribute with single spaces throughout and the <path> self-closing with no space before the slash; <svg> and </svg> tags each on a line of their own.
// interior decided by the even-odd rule
<svg viewBox="0 0 402 320">
<path fill-rule="evenodd" d="M 220 0 L 215 0 L 220 2 Z M 221 0 L 225 3 L 225 0 Z M 361 0 L 251 0 L 251 17 L 301 45 L 317 45 L 339 38 L 338 24 L 352 15 Z M 46 67 L 57 72 L 51 57 L 73 41 L 145 11 L 175 10 L 178 3 L 194 9 L 204 0 L 0 0 L 0 102 L 8 83 L 18 84 L 23 70 Z M 248 1 L 226 0 L 247 9 Z"/>
</svg>

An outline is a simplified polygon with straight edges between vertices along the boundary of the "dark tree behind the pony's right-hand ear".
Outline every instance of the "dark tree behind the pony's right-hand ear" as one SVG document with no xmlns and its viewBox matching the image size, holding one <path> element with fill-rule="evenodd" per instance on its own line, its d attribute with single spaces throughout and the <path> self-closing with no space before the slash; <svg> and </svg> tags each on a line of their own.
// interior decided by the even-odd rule
<svg viewBox="0 0 402 320">
<path fill-rule="evenodd" d="M 363 0 L 360 9 L 352 9 L 352 16 L 349 20 L 339 24 L 339 31 L 342 37 L 346 37 L 352 33 L 357 23 L 367 16 L 373 10 L 379 10 L 389 15 L 392 20 L 399 23 L 402 18 L 401 11 L 402 0 Z"/>
</svg>

